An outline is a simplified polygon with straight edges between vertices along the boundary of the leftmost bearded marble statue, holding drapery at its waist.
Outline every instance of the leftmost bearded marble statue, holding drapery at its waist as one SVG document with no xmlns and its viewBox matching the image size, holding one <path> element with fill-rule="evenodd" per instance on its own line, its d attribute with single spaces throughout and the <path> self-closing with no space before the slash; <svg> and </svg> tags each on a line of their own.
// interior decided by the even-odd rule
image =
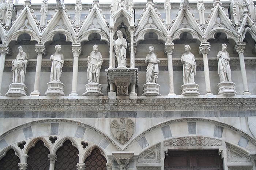
<svg viewBox="0 0 256 170">
<path fill-rule="evenodd" d="M 19 54 L 12 61 L 12 83 L 25 84 L 26 67 L 29 63 L 26 52 L 23 52 L 23 47 L 18 47 Z"/>
</svg>

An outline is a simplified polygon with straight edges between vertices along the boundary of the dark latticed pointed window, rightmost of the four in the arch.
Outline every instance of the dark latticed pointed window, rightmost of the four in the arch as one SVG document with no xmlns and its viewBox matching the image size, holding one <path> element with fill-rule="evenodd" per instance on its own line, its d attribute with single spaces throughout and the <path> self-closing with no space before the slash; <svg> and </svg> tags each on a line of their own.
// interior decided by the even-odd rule
<svg viewBox="0 0 256 170">
<path fill-rule="evenodd" d="M 107 170 L 106 158 L 101 154 L 98 148 L 95 148 L 89 157 L 85 160 L 85 170 Z"/>
</svg>

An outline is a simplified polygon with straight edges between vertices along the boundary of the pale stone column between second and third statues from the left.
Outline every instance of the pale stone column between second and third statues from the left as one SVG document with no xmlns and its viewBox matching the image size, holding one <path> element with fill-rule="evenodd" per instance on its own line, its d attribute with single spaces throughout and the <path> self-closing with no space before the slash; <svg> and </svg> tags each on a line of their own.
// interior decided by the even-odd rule
<svg viewBox="0 0 256 170">
<path fill-rule="evenodd" d="M 79 55 L 81 54 L 80 43 L 72 44 L 72 53 L 74 57 L 74 62 L 73 62 L 72 90 L 69 96 L 78 96 L 76 88 L 77 88 L 77 79 L 78 79 L 78 59 L 79 59 Z"/>
</svg>

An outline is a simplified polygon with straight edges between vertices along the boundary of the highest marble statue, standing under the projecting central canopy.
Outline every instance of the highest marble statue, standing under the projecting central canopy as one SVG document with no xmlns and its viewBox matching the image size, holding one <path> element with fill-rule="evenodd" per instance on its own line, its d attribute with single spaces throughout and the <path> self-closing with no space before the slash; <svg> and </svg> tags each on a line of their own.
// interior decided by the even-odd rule
<svg viewBox="0 0 256 170">
<path fill-rule="evenodd" d="M 123 38 L 123 32 L 118 30 L 117 31 L 118 39 L 113 42 L 115 47 L 115 53 L 117 58 L 117 65 L 118 67 L 123 66 L 126 67 L 126 48 L 127 42 L 126 39 Z"/>
</svg>

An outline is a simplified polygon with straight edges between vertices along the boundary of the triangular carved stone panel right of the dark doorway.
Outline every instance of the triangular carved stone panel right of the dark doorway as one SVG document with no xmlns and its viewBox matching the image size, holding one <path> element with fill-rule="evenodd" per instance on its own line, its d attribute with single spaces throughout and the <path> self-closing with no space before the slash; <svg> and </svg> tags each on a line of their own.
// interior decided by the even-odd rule
<svg viewBox="0 0 256 170">
<path fill-rule="evenodd" d="M 248 153 L 235 147 L 229 143 L 226 143 L 227 147 L 227 162 L 252 162 L 251 157 L 249 157 Z"/>
</svg>

